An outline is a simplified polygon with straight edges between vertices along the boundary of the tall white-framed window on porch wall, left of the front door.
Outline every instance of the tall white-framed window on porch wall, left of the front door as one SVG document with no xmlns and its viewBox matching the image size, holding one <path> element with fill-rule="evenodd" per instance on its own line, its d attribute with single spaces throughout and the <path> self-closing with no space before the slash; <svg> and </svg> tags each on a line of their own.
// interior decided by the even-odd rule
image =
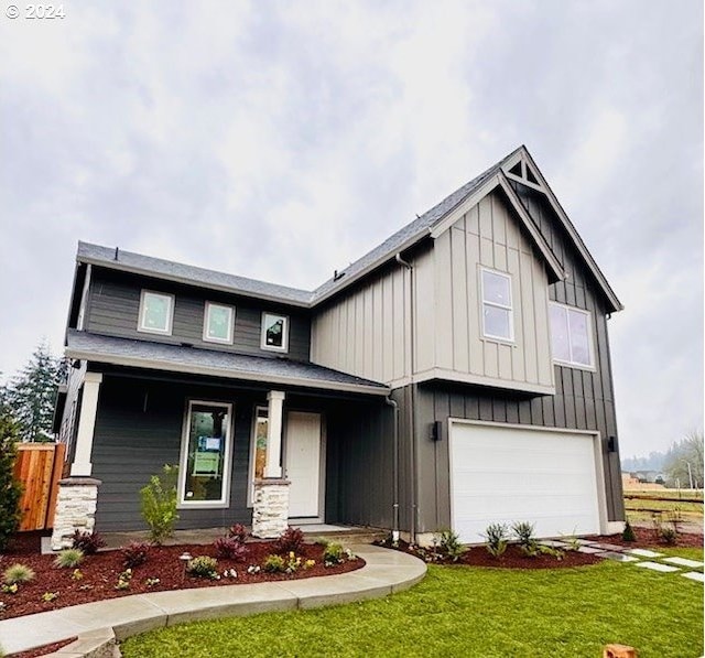
<svg viewBox="0 0 705 658">
<path fill-rule="evenodd" d="M 180 503 L 227 507 L 232 404 L 189 401 L 182 438 Z"/>
</svg>

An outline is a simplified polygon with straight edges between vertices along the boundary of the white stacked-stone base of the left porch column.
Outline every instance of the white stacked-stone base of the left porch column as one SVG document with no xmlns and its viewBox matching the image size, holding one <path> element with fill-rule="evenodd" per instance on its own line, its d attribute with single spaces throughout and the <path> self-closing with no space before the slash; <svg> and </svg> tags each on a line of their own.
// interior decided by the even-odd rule
<svg viewBox="0 0 705 658">
<path fill-rule="evenodd" d="M 102 483 L 94 477 L 67 477 L 58 481 L 52 550 L 73 546 L 76 530 L 93 532 L 96 527 L 98 487 Z"/>
</svg>

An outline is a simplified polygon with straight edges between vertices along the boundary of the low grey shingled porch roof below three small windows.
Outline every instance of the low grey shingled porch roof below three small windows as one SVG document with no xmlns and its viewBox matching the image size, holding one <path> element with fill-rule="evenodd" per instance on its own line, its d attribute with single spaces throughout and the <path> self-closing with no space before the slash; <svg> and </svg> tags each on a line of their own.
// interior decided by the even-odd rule
<svg viewBox="0 0 705 658">
<path fill-rule="evenodd" d="M 66 356 L 76 359 L 261 381 L 326 390 L 387 396 L 389 387 L 315 364 L 232 354 L 192 346 L 133 341 L 69 330 Z"/>
</svg>

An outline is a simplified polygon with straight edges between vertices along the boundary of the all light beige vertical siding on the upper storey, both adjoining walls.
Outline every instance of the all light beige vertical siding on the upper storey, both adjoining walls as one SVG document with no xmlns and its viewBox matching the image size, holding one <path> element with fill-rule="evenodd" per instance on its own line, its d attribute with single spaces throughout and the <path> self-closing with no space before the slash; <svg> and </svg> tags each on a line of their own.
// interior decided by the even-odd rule
<svg viewBox="0 0 705 658">
<path fill-rule="evenodd" d="M 414 277 L 414 376 L 552 390 L 543 262 L 490 194 L 408 256 Z M 482 336 L 481 268 L 511 278 L 514 341 Z M 314 311 L 312 360 L 392 387 L 410 382 L 410 274 L 397 263 Z"/>
</svg>

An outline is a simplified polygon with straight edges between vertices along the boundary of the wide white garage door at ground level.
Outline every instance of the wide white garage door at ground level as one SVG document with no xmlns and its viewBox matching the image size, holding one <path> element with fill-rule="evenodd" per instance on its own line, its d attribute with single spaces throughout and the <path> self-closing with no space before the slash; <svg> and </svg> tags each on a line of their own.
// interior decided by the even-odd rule
<svg viewBox="0 0 705 658">
<path fill-rule="evenodd" d="M 453 423 L 451 514 L 468 543 L 495 522 L 530 521 L 536 537 L 598 533 L 594 438 Z"/>
</svg>

